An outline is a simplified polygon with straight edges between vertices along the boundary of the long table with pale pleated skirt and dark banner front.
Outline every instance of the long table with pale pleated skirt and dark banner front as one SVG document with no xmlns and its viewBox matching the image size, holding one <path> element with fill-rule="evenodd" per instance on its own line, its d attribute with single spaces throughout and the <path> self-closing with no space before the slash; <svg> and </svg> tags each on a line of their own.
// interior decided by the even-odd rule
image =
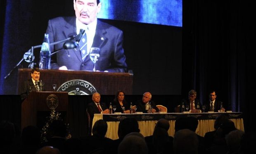
<svg viewBox="0 0 256 154">
<path fill-rule="evenodd" d="M 143 136 L 151 136 L 154 131 L 156 122 L 164 118 L 169 121 L 170 128 L 168 130 L 169 136 L 174 136 L 175 133 L 175 119 L 177 117 L 195 117 L 198 120 L 196 133 L 200 136 L 208 131 L 214 130 L 214 121 L 219 114 L 227 114 L 232 122 L 235 123 L 237 129 L 244 131 L 244 121 L 241 112 L 233 113 L 143 113 L 143 114 L 94 114 L 92 126 L 97 120 L 103 119 L 107 122 L 108 129 L 106 133 L 107 138 L 113 140 L 118 139 L 119 122 L 127 117 L 134 117 L 138 121 L 140 133 Z"/>
</svg>

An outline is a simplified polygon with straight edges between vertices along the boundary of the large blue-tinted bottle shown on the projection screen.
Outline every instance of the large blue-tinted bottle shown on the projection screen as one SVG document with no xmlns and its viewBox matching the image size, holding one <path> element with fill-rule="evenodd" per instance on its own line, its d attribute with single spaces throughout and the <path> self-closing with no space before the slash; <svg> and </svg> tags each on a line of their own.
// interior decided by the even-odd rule
<svg viewBox="0 0 256 154">
<path fill-rule="evenodd" d="M 43 44 L 40 51 L 40 69 L 51 69 L 51 51 L 50 51 L 50 42 L 49 42 L 49 34 L 45 33 L 45 37 L 43 39 Z"/>
</svg>

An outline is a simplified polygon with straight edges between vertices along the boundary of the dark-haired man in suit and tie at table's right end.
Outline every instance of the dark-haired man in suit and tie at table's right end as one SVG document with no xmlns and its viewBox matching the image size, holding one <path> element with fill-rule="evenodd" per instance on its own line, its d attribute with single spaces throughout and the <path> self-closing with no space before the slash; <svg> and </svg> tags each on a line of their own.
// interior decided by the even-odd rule
<svg viewBox="0 0 256 154">
<path fill-rule="evenodd" d="M 217 95 L 216 95 L 215 90 L 211 90 L 210 93 L 209 93 L 209 101 L 206 101 L 204 103 L 204 105 L 205 105 L 205 112 L 208 112 L 208 111 L 224 112 L 225 111 L 225 108 L 223 108 L 222 101 L 218 101 L 216 99 L 216 97 L 217 97 Z"/>
</svg>

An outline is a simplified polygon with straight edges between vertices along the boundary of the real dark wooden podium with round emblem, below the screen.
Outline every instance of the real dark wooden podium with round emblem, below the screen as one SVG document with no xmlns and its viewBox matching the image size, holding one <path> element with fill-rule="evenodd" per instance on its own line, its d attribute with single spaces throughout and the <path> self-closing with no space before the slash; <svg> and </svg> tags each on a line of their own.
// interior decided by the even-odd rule
<svg viewBox="0 0 256 154">
<path fill-rule="evenodd" d="M 58 101 L 58 106 L 56 105 Z M 38 112 L 68 110 L 68 92 L 31 92 L 21 104 L 21 129 L 29 125 L 37 125 Z"/>
</svg>

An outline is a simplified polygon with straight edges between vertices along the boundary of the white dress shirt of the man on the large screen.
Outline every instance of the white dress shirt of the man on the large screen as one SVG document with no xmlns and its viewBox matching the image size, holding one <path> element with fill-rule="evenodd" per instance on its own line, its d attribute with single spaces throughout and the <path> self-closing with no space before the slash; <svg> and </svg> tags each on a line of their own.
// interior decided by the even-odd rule
<svg viewBox="0 0 256 154">
<path fill-rule="evenodd" d="M 93 39 L 96 32 L 97 19 L 92 23 L 85 25 L 76 18 L 76 34 L 79 34 L 80 29 L 84 29 L 87 36 L 87 54 L 90 52 L 92 47 Z"/>
</svg>

